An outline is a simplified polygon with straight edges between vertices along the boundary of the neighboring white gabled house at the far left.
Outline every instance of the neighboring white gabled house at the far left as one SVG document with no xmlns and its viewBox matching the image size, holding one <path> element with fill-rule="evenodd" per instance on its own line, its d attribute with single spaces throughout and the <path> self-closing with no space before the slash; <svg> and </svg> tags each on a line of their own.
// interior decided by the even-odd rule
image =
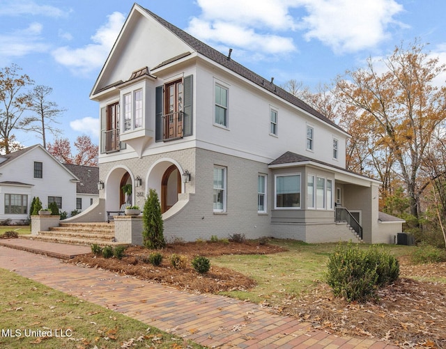
<svg viewBox="0 0 446 349">
<path fill-rule="evenodd" d="M 31 201 L 37 196 L 44 208 L 55 201 L 59 210 L 71 212 L 76 208 L 78 182 L 43 146 L 0 155 L 0 221 L 26 222 Z"/>
</svg>

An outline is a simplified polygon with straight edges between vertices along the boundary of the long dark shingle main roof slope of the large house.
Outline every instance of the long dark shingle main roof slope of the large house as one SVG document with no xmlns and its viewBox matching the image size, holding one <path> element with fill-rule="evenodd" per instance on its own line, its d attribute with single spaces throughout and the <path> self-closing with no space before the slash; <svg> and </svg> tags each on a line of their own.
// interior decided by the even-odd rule
<svg viewBox="0 0 446 349">
<path fill-rule="evenodd" d="M 248 79 L 250 82 L 253 82 L 254 84 L 261 86 L 262 88 L 265 88 L 267 91 L 270 91 L 271 93 L 274 93 L 279 98 L 282 98 L 283 100 L 286 100 L 287 102 L 290 102 L 291 104 L 294 104 L 296 107 L 299 107 L 300 109 L 303 109 L 307 111 L 309 114 L 312 114 L 316 116 L 317 118 L 321 119 L 325 123 L 328 123 L 334 127 L 336 127 L 338 130 L 341 130 L 342 132 L 346 132 L 341 127 L 330 121 L 328 118 L 323 116 L 323 114 L 319 113 L 312 107 L 310 107 L 307 103 L 303 102 L 299 98 L 295 97 L 289 92 L 286 92 L 284 89 L 280 88 L 279 86 L 270 83 L 268 79 L 265 79 L 261 77 L 260 75 L 257 75 L 255 72 L 252 72 L 252 70 L 249 70 L 248 68 L 244 67 L 240 63 L 237 63 L 236 61 L 233 61 L 233 59 L 229 59 L 227 56 L 222 54 L 221 52 L 218 52 L 216 49 L 213 49 L 209 45 L 206 45 L 204 42 L 198 40 L 197 38 L 194 38 L 190 34 L 186 33 L 185 31 L 179 29 L 178 27 L 174 26 L 174 24 L 171 24 L 167 22 L 166 20 L 163 20 L 161 17 L 155 15 L 155 13 L 151 12 L 150 10 L 146 10 L 146 13 L 148 15 L 151 15 L 157 22 L 162 24 L 165 28 L 167 28 L 169 31 L 174 33 L 178 38 L 183 40 L 187 45 L 192 47 L 194 50 L 199 52 L 199 54 L 202 54 L 203 56 L 208 57 L 208 59 L 211 59 L 212 61 L 215 61 L 216 63 L 222 65 L 224 68 L 227 68 L 229 70 L 232 70 L 233 72 L 236 72 L 236 74 L 244 77 L 245 79 Z"/>
</svg>

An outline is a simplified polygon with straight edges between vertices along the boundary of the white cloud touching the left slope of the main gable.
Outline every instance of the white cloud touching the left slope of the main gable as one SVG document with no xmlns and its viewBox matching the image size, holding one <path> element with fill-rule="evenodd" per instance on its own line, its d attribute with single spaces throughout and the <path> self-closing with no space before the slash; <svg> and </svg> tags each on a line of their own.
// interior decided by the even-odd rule
<svg viewBox="0 0 446 349">
<path fill-rule="evenodd" d="M 102 67 L 112 49 L 119 31 L 125 21 L 122 13 L 114 12 L 108 16 L 108 21 L 91 37 L 93 43 L 81 48 L 68 46 L 54 49 L 52 56 L 61 65 L 66 65 L 73 72 L 88 74 Z"/>
</svg>

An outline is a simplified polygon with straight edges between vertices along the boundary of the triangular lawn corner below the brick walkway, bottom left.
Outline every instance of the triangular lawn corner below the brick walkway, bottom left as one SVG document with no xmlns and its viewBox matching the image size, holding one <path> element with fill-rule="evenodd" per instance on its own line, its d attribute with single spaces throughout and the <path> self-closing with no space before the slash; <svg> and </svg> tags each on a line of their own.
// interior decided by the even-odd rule
<svg viewBox="0 0 446 349">
<path fill-rule="evenodd" d="M 0 348 L 183 348 L 183 339 L 13 272 L 0 269 L 0 280 Z"/>
</svg>

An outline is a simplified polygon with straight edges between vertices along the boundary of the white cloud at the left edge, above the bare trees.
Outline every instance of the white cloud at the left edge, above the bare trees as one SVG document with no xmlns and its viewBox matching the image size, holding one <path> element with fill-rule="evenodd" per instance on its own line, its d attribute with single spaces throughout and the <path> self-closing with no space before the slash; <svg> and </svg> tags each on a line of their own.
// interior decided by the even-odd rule
<svg viewBox="0 0 446 349">
<path fill-rule="evenodd" d="M 0 34 L 0 57 L 8 61 L 33 52 L 46 52 L 49 45 L 42 42 L 42 29 L 42 24 L 34 22 L 26 29 Z"/>
</svg>

